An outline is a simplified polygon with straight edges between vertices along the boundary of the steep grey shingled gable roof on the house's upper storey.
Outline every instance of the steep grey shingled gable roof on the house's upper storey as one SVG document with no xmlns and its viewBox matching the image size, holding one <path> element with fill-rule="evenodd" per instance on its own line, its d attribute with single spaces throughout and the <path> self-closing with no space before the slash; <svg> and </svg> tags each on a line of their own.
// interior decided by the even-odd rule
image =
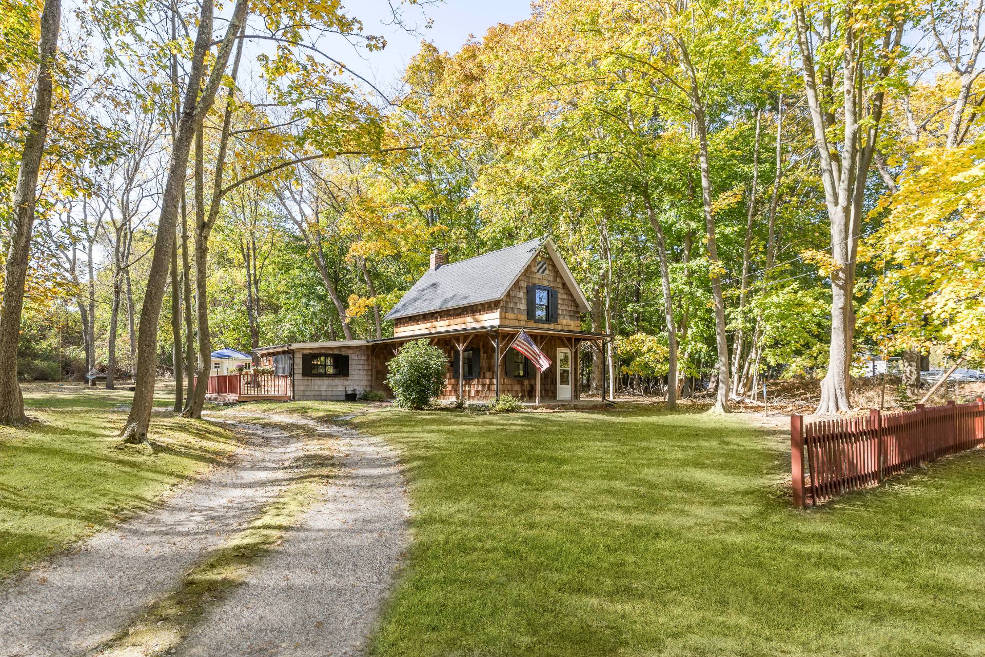
<svg viewBox="0 0 985 657">
<path fill-rule="evenodd" d="M 542 247 L 546 247 L 551 255 L 581 311 L 587 312 L 590 309 L 588 301 L 574 282 L 571 271 L 555 251 L 551 239 L 544 236 L 474 258 L 441 265 L 437 269 L 428 269 L 414 287 L 386 313 L 386 319 L 497 301 L 506 296 Z"/>
</svg>

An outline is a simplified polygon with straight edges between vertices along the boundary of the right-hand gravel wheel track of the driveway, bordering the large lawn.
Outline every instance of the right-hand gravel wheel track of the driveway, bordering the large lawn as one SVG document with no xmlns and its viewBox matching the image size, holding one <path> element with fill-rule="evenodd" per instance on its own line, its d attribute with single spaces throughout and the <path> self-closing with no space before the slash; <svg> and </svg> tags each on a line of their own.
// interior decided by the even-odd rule
<svg viewBox="0 0 985 657">
<path fill-rule="evenodd" d="M 309 420 L 268 419 L 332 436 L 341 471 L 178 655 L 359 654 L 408 545 L 404 481 L 385 442 Z"/>
</svg>

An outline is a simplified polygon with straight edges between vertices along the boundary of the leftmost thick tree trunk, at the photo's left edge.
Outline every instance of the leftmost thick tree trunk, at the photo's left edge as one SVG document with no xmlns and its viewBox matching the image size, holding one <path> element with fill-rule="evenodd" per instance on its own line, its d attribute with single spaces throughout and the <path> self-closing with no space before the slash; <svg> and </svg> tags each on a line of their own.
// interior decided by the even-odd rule
<svg viewBox="0 0 985 657">
<path fill-rule="evenodd" d="M 0 301 L 0 424 L 19 425 L 27 421 L 24 397 L 17 382 L 17 344 L 21 337 L 24 286 L 31 261 L 31 236 L 37 204 L 37 175 L 44 156 L 48 134 L 58 28 L 61 25 L 60 0 L 45 0 L 41 10 L 39 65 L 34 87 L 34 106 L 28 134 L 21 151 L 21 166 L 14 189 L 13 226 L 4 271 L 3 299 Z"/>
</svg>

